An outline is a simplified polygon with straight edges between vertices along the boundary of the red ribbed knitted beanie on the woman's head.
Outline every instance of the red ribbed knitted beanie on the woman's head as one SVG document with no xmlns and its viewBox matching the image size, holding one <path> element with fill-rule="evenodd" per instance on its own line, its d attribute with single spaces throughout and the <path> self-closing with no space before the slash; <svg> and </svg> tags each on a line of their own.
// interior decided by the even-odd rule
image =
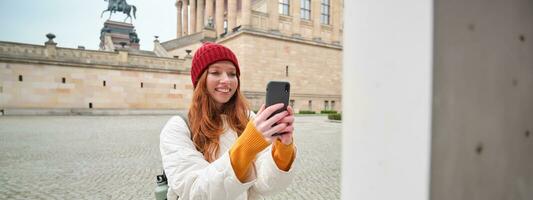
<svg viewBox="0 0 533 200">
<path fill-rule="evenodd" d="M 198 78 L 200 78 L 207 67 L 218 61 L 232 62 L 237 69 L 237 79 L 239 78 L 239 62 L 237 61 L 235 54 L 225 46 L 206 42 L 196 50 L 196 53 L 194 53 L 194 57 L 192 58 L 191 80 L 195 88 L 198 84 Z"/>
</svg>

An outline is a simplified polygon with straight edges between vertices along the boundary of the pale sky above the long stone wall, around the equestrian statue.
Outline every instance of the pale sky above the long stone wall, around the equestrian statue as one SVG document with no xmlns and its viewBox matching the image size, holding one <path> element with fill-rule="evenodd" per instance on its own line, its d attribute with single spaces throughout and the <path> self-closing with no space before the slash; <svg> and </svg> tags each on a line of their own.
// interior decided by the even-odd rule
<svg viewBox="0 0 533 200">
<path fill-rule="evenodd" d="M 137 7 L 133 25 L 141 49 L 152 50 L 154 35 L 160 41 L 176 37 L 174 0 L 127 0 Z M 109 13 L 104 0 L 0 0 L 0 40 L 43 45 L 46 33 L 54 33 L 59 47 L 98 49 L 100 29 Z M 123 21 L 125 14 L 111 19 Z M 129 19 L 128 19 L 129 22 Z"/>
</svg>

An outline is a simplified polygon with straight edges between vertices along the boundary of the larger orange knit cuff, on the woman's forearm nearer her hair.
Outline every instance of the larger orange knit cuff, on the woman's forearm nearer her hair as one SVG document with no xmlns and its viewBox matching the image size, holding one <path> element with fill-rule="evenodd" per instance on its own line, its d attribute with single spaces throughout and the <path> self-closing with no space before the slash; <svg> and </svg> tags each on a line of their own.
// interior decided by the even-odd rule
<svg viewBox="0 0 533 200">
<path fill-rule="evenodd" d="M 268 142 L 263 135 L 255 129 L 252 121 L 230 149 L 230 160 L 237 178 L 244 182 L 249 176 L 249 170 L 255 156 L 268 147 Z"/>
</svg>

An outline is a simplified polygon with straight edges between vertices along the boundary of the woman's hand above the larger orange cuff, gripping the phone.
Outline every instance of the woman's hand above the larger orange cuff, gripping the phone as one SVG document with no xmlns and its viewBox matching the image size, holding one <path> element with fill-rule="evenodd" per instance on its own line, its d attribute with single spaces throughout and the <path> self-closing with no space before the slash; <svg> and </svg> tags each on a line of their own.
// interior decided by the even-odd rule
<svg viewBox="0 0 533 200">
<path fill-rule="evenodd" d="M 287 129 L 292 129 L 292 124 L 289 125 L 287 123 L 279 123 L 275 126 L 272 126 L 289 114 L 286 110 L 268 119 L 268 117 L 272 115 L 272 113 L 282 107 L 283 103 L 274 104 L 272 106 L 269 106 L 268 108 L 265 108 L 265 104 L 263 104 L 261 106 L 261 109 L 259 109 L 257 115 L 255 116 L 255 129 L 259 131 L 263 135 L 263 138 L 265 138 L 265 140 L 267 140 L 269 143 L 272 142 L 272 134 L 284 132 L 284 130 Z"/>
</svg>

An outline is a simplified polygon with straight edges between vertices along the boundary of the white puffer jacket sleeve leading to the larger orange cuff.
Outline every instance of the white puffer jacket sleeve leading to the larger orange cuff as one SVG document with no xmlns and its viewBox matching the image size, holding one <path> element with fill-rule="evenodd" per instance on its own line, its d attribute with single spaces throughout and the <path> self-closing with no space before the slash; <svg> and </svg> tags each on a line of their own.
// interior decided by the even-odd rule
<svg viewBox="0 0 533 200">
<path fill-rule="evenodd" d="M 179 199 L 236 199 L 254 184 L 241 183 L 226 152 L 212 163 L 196 150 L 181 117 L 172 117 L 160 135 L 163 169 Z"/>
</svg>

